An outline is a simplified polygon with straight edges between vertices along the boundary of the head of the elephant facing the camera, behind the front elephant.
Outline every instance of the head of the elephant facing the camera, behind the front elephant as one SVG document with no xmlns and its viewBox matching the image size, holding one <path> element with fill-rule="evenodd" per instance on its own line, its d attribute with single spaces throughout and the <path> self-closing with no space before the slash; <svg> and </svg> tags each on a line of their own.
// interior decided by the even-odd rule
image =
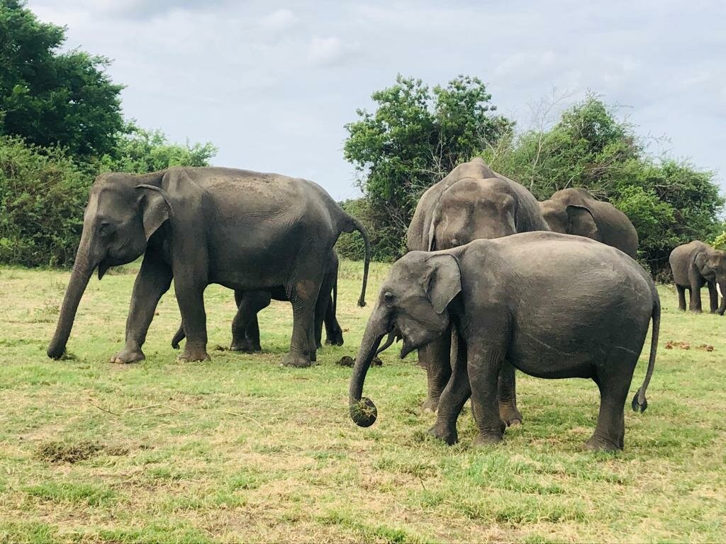
<svg viewBox="0 0 726 544">
<path fill-rule="evenodd" d="M 462 178 L 441 193 L 429 227 L 428 250 L 517 232 L 517 201 L 500 178 Z"/>
</svg>

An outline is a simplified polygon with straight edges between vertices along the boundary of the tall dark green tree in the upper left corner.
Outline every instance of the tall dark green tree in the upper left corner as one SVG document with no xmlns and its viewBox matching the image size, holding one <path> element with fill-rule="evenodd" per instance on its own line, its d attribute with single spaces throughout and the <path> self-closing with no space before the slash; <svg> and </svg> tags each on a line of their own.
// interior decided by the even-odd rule
<svg viewBox="0 0 726 544">
<path fill-rule="evenodd" d="M 65 28 L 40 22 L 21 0 L 0 0 L 0 133 L 58 146 L 74 157 L 113 153 L 123 88 L 108 59 L 60 53 Z"/>
</svg>

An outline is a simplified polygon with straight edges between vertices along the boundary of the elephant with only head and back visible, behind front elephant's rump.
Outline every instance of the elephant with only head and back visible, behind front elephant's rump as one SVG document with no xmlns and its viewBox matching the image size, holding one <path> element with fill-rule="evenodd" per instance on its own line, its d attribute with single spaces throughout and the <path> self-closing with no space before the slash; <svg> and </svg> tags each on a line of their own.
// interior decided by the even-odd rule
<svg viewBox="0 0 726 544">
<path fill-rule="evenodd" d="M 596 200 L 587 189 L 562 189 L 539 207 L 551 231 L 592 238 L 635 259 L 637 231 L 627 215 L 610 202 Z"/>
</svg>

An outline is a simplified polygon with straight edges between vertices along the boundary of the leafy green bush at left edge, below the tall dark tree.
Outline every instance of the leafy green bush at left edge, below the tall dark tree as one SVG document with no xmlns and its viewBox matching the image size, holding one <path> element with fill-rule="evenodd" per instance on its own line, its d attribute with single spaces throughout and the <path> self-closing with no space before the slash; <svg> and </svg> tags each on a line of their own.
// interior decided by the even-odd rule
<svg viewBox="0 0 726 544">
<path fill-rule="evenodd" d="M 0 136 L 0 263 L 73 264 L 92 181 L 60 149 Z"/>
</svg>

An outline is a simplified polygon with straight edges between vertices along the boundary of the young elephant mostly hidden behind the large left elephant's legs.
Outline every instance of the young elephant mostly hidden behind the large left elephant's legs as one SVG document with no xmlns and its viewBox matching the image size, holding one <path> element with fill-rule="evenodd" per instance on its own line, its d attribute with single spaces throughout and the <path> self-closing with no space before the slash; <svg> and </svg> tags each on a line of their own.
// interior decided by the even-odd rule
<svg viewBox="0 0 726 544">
<path fill-rule="evenodd" d="M 330 252 L 327 260 L 328 268 L 320 287 L 317 304 L 315 306 L 315 345 L 322 347 L 322 327 L 325 324 L 325 343 L 328 345 L 343 345 L 343 329 L 340 328 L 336 310 L 338 305 L 338 255 L 335 251 Z M 333 290 L 331 297 L 330 291 Z M 282 286 L 267 291 L 235 291 L 234 302 L 237 305 L 237 315 L 232 321 L 232 345 L 229 350 L 253 353 L 261 351 L 260 327 L 257 321 L 257 313 L 269 306 L 270 301 L 289 301 L 285 288 Z M 184 339 L 184 325 L 171 339 L 171 347 L 179 349 L 179 342 Z"/>
</svg>

